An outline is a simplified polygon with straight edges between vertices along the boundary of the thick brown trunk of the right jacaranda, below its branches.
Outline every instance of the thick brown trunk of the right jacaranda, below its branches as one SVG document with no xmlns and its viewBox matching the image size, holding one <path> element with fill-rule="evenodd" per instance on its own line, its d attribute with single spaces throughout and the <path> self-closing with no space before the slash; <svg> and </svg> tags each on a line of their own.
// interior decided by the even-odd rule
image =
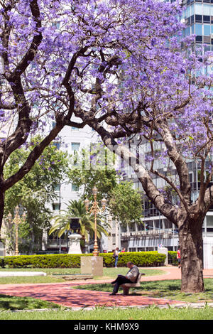
<svg viewBox="0 0 213 334">
<path fill-rule="evenodd" d="M 182 284 L 181 291 L 203 292 L 202 221 L 187 220 L 179 229 Z"/>
</svg>

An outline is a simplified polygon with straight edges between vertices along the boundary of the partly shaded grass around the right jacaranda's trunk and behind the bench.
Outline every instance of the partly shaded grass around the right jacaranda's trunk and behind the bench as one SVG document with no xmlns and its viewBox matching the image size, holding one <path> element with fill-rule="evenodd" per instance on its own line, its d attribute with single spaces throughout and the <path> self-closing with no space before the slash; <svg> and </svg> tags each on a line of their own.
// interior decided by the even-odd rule
<svg viewBox="0 0 213 334">
<path fill-rule="evenodd" d="M 133 295 L 166 298 L 175 301 L 185 301 L 189 303 L 213 302 L 213 279 L 204 279 L 204 293 L 184 293 L 180 292 L 181 281 L 145 281 L 141 282 L 138 288 L 131 288 L 129 293 Z M 84 286 L 73 286 L 72 289 L 85 289 L 93 291 L 112 291 L 111 284 L 88 284 Z"/>
</svg>

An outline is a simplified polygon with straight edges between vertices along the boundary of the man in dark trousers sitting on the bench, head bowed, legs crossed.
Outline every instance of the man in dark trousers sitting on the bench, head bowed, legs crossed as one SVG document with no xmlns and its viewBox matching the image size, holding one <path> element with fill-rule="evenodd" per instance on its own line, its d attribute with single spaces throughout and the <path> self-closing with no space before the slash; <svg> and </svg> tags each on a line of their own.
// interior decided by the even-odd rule
<svg viewBox="0 0 213 334">
<path fill-rule="evenodd" d="M 135 283 L 137 281 L 138 274 L 139 274 L 138 267 L 135 266 L 132 262 L 128 262 L 126 266 L 128 266 L 129 268 L 128 273 L 126 274 L 126 276 L 118 275 L 116 280 L 111 282 L 111 284 L 114 284 L 114 289 L 113 289 L 113 292 L 110 293 L 109 296 L 115 296 L 116 293 L 119 291 L 120 285 L 124 283 Z"/>
</svg>

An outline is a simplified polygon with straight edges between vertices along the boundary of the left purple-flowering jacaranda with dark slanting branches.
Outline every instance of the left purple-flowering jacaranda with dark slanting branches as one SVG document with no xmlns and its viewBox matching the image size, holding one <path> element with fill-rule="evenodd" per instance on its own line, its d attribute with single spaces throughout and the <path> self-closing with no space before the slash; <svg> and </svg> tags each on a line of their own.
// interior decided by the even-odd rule
<svg viewBox="0 0 213 334">
<path fill-rule="evenodd" d="M 117 63 L 108 48 L 124 18 L 116 4 L 105 1 L 2 0 L 0 9 L 1 227 L 6 190 L 31 170 L 64 126 L 87 124 L 73 122 L 75 110 L 87 108 L 92 77 L 103 70 L 107 75 Z M 107 61 L 99 70 L 103 50 Z M 30 145 L 35 134 L 43 140 L 16 173 L 4 178 L 11 153 Z"/>
</svg>

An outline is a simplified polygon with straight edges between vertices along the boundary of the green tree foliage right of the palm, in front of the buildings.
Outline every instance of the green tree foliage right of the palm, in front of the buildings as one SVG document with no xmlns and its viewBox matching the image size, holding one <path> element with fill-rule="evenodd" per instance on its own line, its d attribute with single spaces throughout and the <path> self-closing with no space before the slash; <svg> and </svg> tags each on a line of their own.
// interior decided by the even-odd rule
<svg viewBox="0 0 213 334">
<path fill-rule="evenodd" d="M 72 157 L 72 169 L 68 173 L 70 181 L 83 187 L 82 199 L 93 200 L 92 188 L 98 189 L 97 200 L 107 199 L 107 207 L 114 219 L 124 225 L 141 222 L 141 195 L 133 189 L 133 183 L 119 184 L 119 176 L 114 166 L 114 154 L 100 145 L 91 150 L 83 149 Z"/>
</svg>

